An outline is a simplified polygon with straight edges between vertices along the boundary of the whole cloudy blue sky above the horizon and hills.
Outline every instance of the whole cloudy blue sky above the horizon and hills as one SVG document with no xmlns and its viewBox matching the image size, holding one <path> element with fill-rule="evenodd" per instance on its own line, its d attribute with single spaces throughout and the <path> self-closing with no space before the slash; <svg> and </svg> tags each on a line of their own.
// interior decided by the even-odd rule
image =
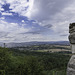
<svg viewBox="0 0 75 75">
<path fill-rule="evenodd" d="M 0 42 L 68 41 L 75 0 L 0 0 Z"/>
</svg>

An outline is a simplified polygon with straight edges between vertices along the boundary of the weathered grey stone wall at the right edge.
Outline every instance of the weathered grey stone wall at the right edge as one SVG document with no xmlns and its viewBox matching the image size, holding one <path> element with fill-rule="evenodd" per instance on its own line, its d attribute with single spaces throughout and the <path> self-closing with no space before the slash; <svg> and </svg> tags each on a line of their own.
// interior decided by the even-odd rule
<svg viewBox="0 0 75 75">
<path fill-rule="evenodd" d="M 67 75 L 75 75 L 75 23 L 70 24 L 69 33 L 69 41 L 73 55 L 67 66 Z"/>
</svg>

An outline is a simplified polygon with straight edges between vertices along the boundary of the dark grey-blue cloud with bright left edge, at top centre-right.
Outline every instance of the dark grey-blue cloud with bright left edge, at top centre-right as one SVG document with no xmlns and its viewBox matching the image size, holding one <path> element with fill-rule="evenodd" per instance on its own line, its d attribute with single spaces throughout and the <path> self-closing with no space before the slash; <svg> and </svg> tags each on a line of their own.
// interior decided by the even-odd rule
<svg viewBox="0 0 75 75">
<path fill-rule="evenodd" d="M 74 0 L 72 0 L 74 1 Z M 53 15 L 57 14 L 63 8 L 71 4 L 68 0 L 36 0 L 34 1 L 33 10 L 31 11 L 31 18 L 40 20 L 47 20 Z"/>
</svg>

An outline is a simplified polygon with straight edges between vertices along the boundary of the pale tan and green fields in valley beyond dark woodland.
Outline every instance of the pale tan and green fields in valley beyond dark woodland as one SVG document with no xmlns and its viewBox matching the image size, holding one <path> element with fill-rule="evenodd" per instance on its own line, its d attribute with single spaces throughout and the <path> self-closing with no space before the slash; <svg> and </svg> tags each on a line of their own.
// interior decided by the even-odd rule
<svg viewBox="0 0 75 75">
<path fill-rule="evenodd" d="M 34 46 L 38 47 L 39 46 Z M 34 50 L 31 50 L 34 51 Z M 61 45 L 51 45 L 48 49 L 38 49 L 35 52 L 71 52 L 70 46 L 61 46 Z"/>
</svg>

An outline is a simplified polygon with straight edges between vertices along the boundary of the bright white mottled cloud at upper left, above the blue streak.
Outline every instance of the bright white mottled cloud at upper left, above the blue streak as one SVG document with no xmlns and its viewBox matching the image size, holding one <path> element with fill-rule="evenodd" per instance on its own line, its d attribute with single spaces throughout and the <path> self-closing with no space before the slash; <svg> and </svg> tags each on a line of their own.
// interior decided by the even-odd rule
<svg viewBox="0 0 75 75">
<path fill-rule="evenodd" d="M 29 17 L 34 0 L 30 0 L 29 2 L 27 0 L 6 0 L 6 2 L 10 4 L 11 11 Z"/>
</svg>

